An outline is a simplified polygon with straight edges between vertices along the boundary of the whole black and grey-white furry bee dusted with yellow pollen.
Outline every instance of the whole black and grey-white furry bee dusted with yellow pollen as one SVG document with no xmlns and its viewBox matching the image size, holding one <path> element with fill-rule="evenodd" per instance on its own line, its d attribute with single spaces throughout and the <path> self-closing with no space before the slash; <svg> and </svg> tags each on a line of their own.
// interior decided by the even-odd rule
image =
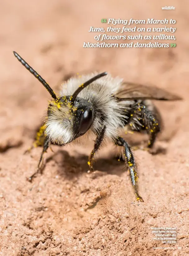
<svg viewBox="0 0 189 256">
<path fill-rule="evenodd" d="M 124 148 L 124 159 L 128 166 L 137 200 L 143 201 L 138 192 L 138 174 L 133 153 L 128 143 L 119 136 L 120 129 L 130 126 L 149 135 L 148 148 L 154 145 L 160 132 L 160 114 L 150 100 L 181 100 L 181 97 L 160 88 L 134 83 L 124 83 L 110 74 L 92 73 L 71 78 L 56 97 L 46 81 L 16 52 L 15 57 L 51 94 L 47 117 L 38 132 L 35 145 L 42 145 L 43 153 L 49 145 L 66 145 L 74 140 L 95 138 L 94 149 L 89 154 L 88 166 L 93 171 L 96 152 L 104 140 L 111 140 Z M 31 180 L 34 173 L 29 179 Z"/>
</svg>

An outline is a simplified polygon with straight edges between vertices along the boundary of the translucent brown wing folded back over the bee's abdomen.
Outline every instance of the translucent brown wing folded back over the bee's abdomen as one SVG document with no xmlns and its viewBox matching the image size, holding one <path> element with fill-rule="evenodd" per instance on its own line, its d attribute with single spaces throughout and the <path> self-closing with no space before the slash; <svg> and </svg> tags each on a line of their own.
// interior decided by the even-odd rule
<svg viewBox="0 0 189 256">
<path fill-rule="evenodd" d="M 131 99 L 150 100 L 182 100 L 180 96 L 167 92 L 157 87 L 150 87 L 137 83 L 122 83 L 122 88 L 115 94 L 119 101 Z"/>
</svg>

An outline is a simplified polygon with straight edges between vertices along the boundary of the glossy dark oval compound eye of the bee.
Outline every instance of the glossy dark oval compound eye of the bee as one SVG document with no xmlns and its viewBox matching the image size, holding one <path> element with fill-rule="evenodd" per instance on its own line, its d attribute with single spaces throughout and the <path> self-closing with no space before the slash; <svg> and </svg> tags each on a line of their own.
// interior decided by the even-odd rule
<svg viewBox="0 0 189 256">
<path fill-rule="evenodd" d="M 93 122 L 93 111 L 91 107 L 87 107 L 81 115 L 79 121 L 79 133 L 84 134 L 91 127 Z"/>
</svg>

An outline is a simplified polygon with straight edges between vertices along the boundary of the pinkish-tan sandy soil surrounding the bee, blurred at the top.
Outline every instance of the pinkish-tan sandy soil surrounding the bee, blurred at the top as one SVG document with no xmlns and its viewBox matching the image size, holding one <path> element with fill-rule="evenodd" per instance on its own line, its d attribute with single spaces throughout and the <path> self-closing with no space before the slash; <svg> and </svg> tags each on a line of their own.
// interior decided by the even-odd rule
<svg viewBox="0 0 189 256">
<path fill-rule="evenodd" d="M 187 255 L 188 3 L 70 2 L 1 2 L 0 254 Z M 162 11 L 165 4 L 176 10 Z M 176 19 L 177 47 L 84 49 L 84 41 L 94 42 L 89 27 L 101 26 L 101 19 L 108 17 Z M 61 79 L 100 70 L 127 81 L 156 84 L 184 97 L 183 102 L 156 103 L 164 120 L 156 147 L 165 148 L 166 153 L 134 151 L 144 203 L 135 200 L 124 164 L 112 158 L 109 149 L 100 151 L 98 171 L 87 173 L 91 145 L 53 146 L 54 153 L 46 154 L 43 175 L 33 183 L 26 180 L 36 169 L 41 148 L 23 152 L 33 141 L 49 95 L 12 50 L 56 91 Z M 162 243 L 152 240 L 151 227 L 176 227 L 176 249 L 154 250 Z"/>
</svg>

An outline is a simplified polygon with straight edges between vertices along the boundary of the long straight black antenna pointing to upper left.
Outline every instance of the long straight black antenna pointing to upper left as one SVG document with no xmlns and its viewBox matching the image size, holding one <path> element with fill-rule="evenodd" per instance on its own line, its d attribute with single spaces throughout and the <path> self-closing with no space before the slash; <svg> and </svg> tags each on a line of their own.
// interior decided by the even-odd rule
<svg viewBox="0 0 189 256">
<path fill-rule="evenodd" d="M 25 66 L 26 69 L 29 70 L 32 75 L 34 75 L 35 78 L 38 79 L 40 83 L 43 84 L 43 86 L 47 89 L 47 91 L 51 94 L 52 98 L 56 100 L 56 94 L 52 90 L 52 88 L 48 85 L 48 83 L 31 67 L 27 62 L 25 62 L 20 55 L 18 55 L 15 51 L 13 51 L 13 54 L 15 55 L 16 59 L 18 59 L 23 66 Z"/>
</svg>

